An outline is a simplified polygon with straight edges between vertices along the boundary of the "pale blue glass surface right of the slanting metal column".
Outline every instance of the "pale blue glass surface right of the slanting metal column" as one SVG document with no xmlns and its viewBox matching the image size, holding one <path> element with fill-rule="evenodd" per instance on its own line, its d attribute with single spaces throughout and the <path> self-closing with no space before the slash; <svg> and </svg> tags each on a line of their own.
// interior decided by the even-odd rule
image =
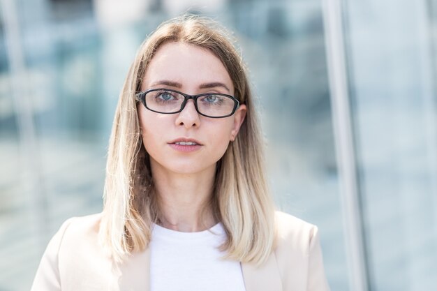
<svg viewBox="0 0 437 291">
<path fill-rule="evenodd" d="M 437 290 L 436 1 L 348 0 L 371 290 Z"/>
</svg>

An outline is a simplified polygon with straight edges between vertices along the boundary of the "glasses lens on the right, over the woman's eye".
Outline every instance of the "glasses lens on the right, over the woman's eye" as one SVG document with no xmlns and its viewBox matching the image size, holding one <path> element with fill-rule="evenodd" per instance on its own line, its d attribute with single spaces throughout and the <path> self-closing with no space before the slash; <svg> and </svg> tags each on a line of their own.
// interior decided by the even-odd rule
<svg viewBox="0 0 437 291">
<path fill-rule="evenodd" d="M 224 117 L 232 113 L 235 100 L 229 96 L 211 94 L 198 98 L 199 112 L 209 117 Z"/>
</svg>

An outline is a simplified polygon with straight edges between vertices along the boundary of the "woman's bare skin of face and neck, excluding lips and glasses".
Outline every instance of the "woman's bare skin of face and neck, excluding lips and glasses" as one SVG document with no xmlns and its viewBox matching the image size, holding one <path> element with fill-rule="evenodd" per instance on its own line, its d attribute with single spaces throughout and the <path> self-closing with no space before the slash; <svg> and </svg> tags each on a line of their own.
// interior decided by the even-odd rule
<svg viewBox="0 0 437 291">
<path fill-rule="evenodd" d="M 158 48 L 141 89 L 156 88 L 191 95 L 234 94 L 232 80 L 221 61 L 212 52 L 185 43 L 167 43 Z M 198 114 L 193 100 L 188 100 L 184 110 L 177 114 L 151 112 L 138 104 L 142 140 L 150 155 L 163 227 L 198 232 L 217 223 L 208 206 L 216 163 L 229 142 L 235 140 L 245 115 L 245 105 L 240 105 L 230 117 L 212 119 Z M 195 139 L 201 146 L 184 152 L 170 145 L 187 138 Z"/>
</svg>

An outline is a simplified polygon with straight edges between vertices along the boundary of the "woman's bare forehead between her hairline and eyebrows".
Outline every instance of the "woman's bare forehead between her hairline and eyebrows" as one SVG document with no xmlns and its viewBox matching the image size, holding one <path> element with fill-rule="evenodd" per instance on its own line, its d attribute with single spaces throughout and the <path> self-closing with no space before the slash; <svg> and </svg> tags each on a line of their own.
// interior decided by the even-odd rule
<svg viewBox="0 0 437 291">
<path fill-rule="evenodd" d="M 162 80 L 177 82 L 184 90 L 198 89 L 200 84 L 223 83 L 230 89 L 227 93 L 234 91 L 221 60 L 207 49 L 186 43 L 166 43 L 158 48 L 147 67 L 142 90 Z"/>
</svg>

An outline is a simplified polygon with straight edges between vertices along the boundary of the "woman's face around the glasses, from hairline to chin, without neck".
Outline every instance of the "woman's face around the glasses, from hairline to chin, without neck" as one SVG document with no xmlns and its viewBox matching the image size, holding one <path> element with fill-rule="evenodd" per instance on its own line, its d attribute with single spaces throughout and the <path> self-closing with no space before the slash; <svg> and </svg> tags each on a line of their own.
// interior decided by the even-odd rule
<svg viewBox="0 0 437 291">
<path fill-rule="evenodd" d="M 141 90 L 158 88 L 190 95 L 234 95 L 232 80 L 221 61 L 208 50 L 184 43 L 167 43 L 151 59 Z M 176 114 L 152 112 L 138 103 L 142 140 L 152 170 L 161 167 L 180 174 L 214 172 L 245 114 L 245 105 L 230 117 L 214 119 L 198 114 L 193 100 Z"/>
</svg>

